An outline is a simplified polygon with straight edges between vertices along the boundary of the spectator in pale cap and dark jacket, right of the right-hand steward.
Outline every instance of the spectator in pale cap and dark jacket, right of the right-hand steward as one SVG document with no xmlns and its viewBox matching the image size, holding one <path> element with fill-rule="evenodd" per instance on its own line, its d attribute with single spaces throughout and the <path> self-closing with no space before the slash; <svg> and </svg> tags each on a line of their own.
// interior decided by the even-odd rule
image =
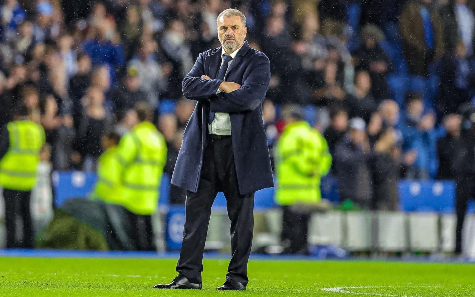
<svg viewBox="0 0 475 297">
<path fill-rule="evenodd" d="M 372 206 L 372 181 L 369 167 L 370 146 L 365 121 L 352 118 L 349 132 L 335 146 L 335 174 L 341 201 L 352 201 L 360 207 Z"/>
</svg>

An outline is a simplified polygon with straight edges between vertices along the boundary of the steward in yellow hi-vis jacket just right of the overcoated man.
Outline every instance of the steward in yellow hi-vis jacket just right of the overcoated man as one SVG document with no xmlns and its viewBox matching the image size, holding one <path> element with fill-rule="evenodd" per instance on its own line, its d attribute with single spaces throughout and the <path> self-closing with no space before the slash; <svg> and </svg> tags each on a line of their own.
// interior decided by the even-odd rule
<svg viewBox="0 0 475 297">
<path fill-rule="evenodd" d="M 298 105 L 284 110 L 286 126 L 275 149 L 275 201 L 282 205 L 284 253 L 307 254 L 310 211 L 321 201 L 320 180 L 330 170 L 332 157 L 321 134 L 303 120 Z"/>
</svg>

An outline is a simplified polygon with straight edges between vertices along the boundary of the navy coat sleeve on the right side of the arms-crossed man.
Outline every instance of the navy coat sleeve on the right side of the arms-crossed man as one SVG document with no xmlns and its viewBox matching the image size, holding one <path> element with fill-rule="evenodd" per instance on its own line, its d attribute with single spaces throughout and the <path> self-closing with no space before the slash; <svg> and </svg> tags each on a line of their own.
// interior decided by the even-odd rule
<svg viewBox="0 0 475 297">
<path fill-rule="evenodd" d="M 254 64 L 254 62 L 253 62 Z M 211 99 L 210 110 L 214 112 L 253 111 L 264 101 L 269 89 L 270 62 L 265 55 L 260 55 L 241 88 L 231 93 L 221 92 Z"/>
</svg>

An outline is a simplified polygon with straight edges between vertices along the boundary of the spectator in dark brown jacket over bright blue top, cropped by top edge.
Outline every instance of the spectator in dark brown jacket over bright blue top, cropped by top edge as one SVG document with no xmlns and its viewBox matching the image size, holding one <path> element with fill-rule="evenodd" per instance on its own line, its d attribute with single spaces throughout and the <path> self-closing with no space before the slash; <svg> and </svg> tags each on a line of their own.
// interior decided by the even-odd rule
<svg viewBox="0 0 475 297">
<path fill-rule="evenodd" d="M 411 0 L 403 8 L 399 31 L 409 73 L 428 76 L 429 65 L 444 54 L 442 23 L 433 0 Z"/>
</svg>

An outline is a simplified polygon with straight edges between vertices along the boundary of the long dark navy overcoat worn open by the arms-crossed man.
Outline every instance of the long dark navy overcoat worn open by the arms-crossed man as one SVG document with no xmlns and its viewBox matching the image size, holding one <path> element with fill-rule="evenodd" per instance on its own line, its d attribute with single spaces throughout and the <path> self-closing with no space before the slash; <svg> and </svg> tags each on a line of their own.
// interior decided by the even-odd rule
<svg viewBox="0 0 475 297">
<path fill-rule="evenodd" d="M 226 81 L 238 83 L 241 88 L 228 94 L 216 94 L 222 82 L 214 79 L 221 66 L 221 50 L 219 47 L 200 53 L 190 73 L 183 79 L 183 95 L 198 102 L 185 127 L 171 183 L 192 192 L 198 190 L 208 134 L 206 119 L 211 108 L 211 111 L 227 112 L 231 118 L 240 194 L 272 187 L 270 155 L 262 121 L 262 102 L 270 80 L 269 59 L 245 41 L 226 75 Z M 202 79 L 203 74 L 211 79 Z"/>
</svg>

